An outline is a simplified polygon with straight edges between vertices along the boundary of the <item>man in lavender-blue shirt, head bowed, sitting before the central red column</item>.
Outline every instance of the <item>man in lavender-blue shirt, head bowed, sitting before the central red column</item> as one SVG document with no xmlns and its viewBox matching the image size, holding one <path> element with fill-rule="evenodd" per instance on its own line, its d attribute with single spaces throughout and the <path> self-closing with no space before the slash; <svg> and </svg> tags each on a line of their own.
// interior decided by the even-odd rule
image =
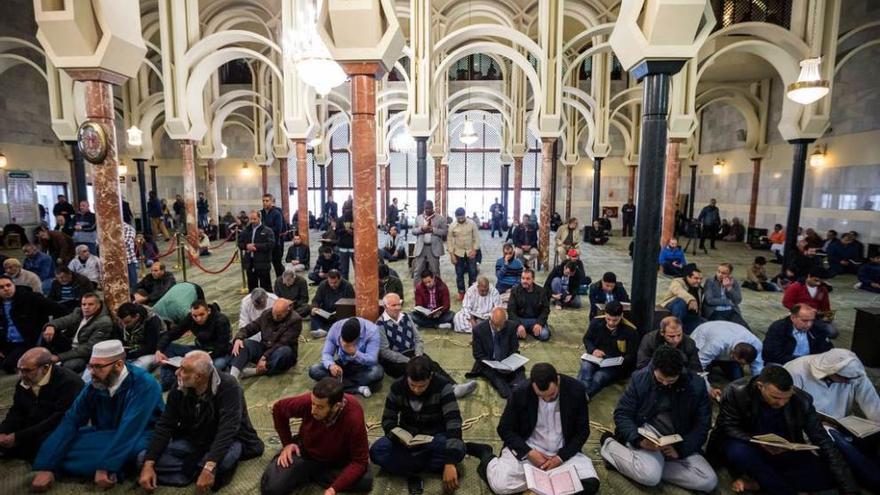
<svg viewBox="0 0 880 495">
<path fill-rule="evenodd" d="M 372 395 L 384 376 L 379 364 L 382 338 L 379 328 L 363 318 L 346 318 L 330 327 L 321 362 L 309 368 L 309 377 L 319 381 L 328 376 L 340 380 L 349 393 Z"/>
</svg>

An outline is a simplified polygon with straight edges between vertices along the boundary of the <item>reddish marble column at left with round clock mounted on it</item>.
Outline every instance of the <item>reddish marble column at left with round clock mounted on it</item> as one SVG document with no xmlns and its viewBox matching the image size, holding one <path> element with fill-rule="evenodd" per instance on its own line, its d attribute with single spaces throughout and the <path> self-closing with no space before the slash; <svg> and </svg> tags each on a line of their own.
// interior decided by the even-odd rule
<svg viewBox="0 0 880 495">
<path fill-rule="evenodd" d="M 92 165 L 92 186 L 98 222 L 98 245 L 104 261 L 101 287 L 104 304 L 115 320 L 116 310 L 122 303 L 128 302 L 130 297 L 128 263 L 122 240 L 122 202 L 117 172 L 119 158 L 113 110 L 113 85 L 122 84 L 125 78 L 102 70 L 77 70 L 68 73 L 74 80 L 84 82 L 86 118 L 98 123 L 107 138 L 107 155 L 104 161 Z"/>
</svg>

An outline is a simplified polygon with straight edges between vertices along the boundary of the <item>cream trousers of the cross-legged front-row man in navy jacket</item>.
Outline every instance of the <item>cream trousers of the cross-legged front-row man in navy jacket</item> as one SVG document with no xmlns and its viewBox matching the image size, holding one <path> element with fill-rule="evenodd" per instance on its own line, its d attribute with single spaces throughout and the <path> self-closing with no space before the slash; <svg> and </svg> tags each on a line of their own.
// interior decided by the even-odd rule
<svg viewBox="0 0 880 495">
<path fill-rule="evenodd" d="M 665 481 L 685 490 L 711 492 L 718 484 L 715 470 L 700 454 L 670 460 L 660 452 L 633 449 L 614 439 L 606 440 L 599 453 L 620 474 L 641 485 L 657 486 Z"/>
</svg>

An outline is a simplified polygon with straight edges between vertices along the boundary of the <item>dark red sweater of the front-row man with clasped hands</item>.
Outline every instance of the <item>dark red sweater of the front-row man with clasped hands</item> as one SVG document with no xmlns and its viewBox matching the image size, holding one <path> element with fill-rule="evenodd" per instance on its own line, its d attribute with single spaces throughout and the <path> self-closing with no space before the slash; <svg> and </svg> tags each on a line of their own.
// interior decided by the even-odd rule
<svg viewBox="0 0 880 495">
<path fill-rule="evenodd" d="M 326 465 L 345 464 L 330 485 L 337 492 L 345 491 L 367 472 L 370 464 L 364 410 L 353 395 L 345 394 L 345 407 L 336 421 L 327 426 L 312 416 L 311 408 L 311 393 L 279 400 L 272 406 L 275 431 L 282 445 L 289 445 L 293 443 L 290 418 L 302 418 L 298 445 L 303 456 Z"/>
</svg>

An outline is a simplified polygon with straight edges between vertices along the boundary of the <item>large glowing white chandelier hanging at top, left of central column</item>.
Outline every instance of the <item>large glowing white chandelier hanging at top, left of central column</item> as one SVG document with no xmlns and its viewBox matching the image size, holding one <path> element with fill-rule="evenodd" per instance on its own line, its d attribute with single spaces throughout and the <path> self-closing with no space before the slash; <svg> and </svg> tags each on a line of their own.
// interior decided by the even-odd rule
<svg viewBox="0 0 880 495">
<path fill-rule="evenodd" d="M 285 51 L 300 80 L 324 96 L 344 83 L 347 76 L 318 34 L 315 5 L 309 2 L 303 10 L 296 30 L 287 33 Z"/>
</svg>

